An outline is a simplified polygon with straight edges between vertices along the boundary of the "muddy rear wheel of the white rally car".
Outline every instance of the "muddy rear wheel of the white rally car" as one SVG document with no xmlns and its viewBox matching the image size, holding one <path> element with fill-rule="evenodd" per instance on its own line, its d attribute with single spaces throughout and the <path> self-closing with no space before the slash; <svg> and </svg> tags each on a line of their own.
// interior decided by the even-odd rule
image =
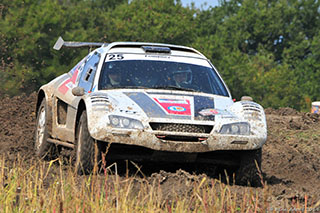
<svg viewBox="0 0 320 213">
<path fill-rule="evenodd" d="M 49 137 L 47 116 L 46 100 L 43 99 L 37 113 L 34 149 L 38 157 L 52 159 L 56 157 L 56 147 L 47 141 Z"/>
</svg>

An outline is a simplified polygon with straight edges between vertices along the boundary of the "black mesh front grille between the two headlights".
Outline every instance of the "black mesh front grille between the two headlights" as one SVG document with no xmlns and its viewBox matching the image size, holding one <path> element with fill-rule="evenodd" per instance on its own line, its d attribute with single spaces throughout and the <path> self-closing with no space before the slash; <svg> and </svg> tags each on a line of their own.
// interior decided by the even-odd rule
<svg viewBox="0 0 320 213">
<path fill-rule="evenodd" d="M 210 125 L 175 124 L 175 123 L 149 123 L 152 130 L 169 132 L 207 133 L 213 129 Z"/>
</svg>

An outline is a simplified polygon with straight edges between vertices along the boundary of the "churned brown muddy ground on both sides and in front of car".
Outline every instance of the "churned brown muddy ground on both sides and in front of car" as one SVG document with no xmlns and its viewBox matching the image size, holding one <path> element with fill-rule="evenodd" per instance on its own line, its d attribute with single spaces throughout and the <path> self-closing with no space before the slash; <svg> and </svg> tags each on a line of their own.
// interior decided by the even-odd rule
<svg viewBox="0 0 320 213">
<path fill-rule="evenodd" d="M 19 154 L 26 161 L 34 160 L 33 134 L 35 126 L 36 94 L 4 97 L 0 100 L 0 152 L 6 156 L 7 166 Z M 311 113 L 301 113 L 290 108 L 266 109 L 268 140 L 263 148 L 262 170 L 264 181 L 274 202 L 300 199 L 320 200 L 320 118 Z M 12 166 L 12 165 L 11 165 Z M 166 180 L 162 187 L 170 196 L 172 188 L 183 193 L 190 188 L 180 184 L 184 179 L 197 179 L 199 171 L 172 171 L 159 165 L 155 172 L 144 171 L 149 180 Z M 205 174 L 206 175 L 206 174 Z M 215 178 L 208 174 L 209 178 Z M 174 186 L 174 187 L 173 187 Z M 192 186 L 189 186 L 192 187 Z M 246 186 L 233 185 L 240 199 Z M 258 189 L 259 190 L 259 189 Z"/>
</svg>

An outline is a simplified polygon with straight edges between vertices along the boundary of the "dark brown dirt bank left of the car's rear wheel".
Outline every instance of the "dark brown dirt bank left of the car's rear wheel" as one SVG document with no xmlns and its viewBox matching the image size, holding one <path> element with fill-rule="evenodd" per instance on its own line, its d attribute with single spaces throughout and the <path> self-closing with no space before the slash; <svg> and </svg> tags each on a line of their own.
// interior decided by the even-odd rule
<svg viewBox="0 0 320 213">
<path fill-rule="evenodd" d="M 0 100 L 0 150 L 14 160 L 17 155 L 33 158 L 36 93 Z"/>
</svg>

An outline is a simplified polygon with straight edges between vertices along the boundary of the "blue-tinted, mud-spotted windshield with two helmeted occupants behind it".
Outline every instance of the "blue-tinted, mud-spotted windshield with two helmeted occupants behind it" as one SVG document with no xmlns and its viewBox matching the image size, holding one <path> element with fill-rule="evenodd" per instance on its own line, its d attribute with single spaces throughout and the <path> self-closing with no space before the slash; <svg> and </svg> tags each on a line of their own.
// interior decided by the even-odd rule
<svg viewBox="0 0 320 213">
<path fill-rule="evenodd" d="M 227 89 L 212 68 L 170 61 L 105 62 L 99 89 L 112 88 L 176 89 L 228 96 Z"/>
</svg>

